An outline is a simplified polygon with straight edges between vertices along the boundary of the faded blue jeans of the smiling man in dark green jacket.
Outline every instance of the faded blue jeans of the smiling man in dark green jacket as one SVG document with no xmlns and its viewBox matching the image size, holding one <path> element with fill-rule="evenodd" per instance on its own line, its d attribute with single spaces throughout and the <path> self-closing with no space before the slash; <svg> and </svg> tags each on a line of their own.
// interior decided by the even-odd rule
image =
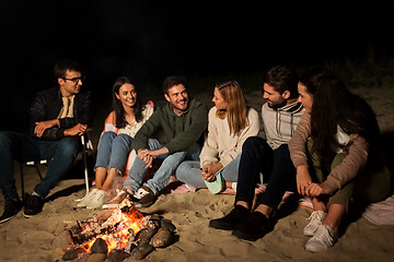
<svg viewBox="0 0 394 262">
<path fill-rule="evenodd" d="M 148 141 L 149 150 L 159 150 L 164 145 L 155 139 L 149 139 Z M 159 156 L 158 159 L 163 160 L 161 166 L 154 172 L 153 178 L 149 179 L 146 183 L 143 183 L 143 186 L 150 188 L 154 194 L 159 194 L 159 192 L 169 183 L 171 175 L 175 172 L 178 165 L 184 159 L 198 159 L 199 154 L 200 146 L 196 143 L 185 151 Z M 141 187 L 148 174 L 146 166 L 147 165 L 139 157 L 136 157 L 124 186 L 131 187 L 132 190 L 137 191 Z"/>
</svg>

